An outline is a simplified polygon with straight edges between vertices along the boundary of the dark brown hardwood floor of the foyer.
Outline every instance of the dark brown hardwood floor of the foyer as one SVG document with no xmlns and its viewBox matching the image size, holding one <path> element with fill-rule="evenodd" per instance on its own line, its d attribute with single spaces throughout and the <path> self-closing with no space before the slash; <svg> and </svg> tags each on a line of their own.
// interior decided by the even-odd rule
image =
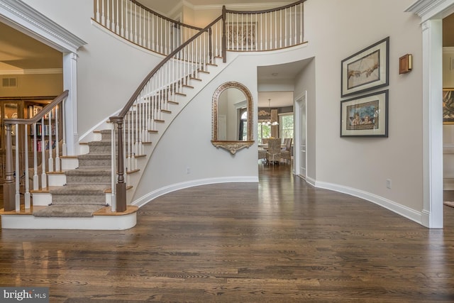
<svg viewBox="0 0 454 303">
<path fill-rule="evenodd" d="M 454 208 L 431 230 L 259 169 L 155 199 L 127 231 L 2 230 L 0 286 L 68 303 L 454 302 Z"/>
</svg>

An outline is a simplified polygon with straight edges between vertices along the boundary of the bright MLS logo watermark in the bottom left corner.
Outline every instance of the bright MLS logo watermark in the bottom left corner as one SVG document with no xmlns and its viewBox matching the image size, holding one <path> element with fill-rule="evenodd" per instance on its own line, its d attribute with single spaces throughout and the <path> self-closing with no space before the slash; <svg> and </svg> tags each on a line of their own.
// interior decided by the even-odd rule
<svg viewBox="0 0 454 303">
<path fill-rule="evenodd" d="M 0 287 L 1 302 L 49 303 L 49 287 Z"/>
</svg>

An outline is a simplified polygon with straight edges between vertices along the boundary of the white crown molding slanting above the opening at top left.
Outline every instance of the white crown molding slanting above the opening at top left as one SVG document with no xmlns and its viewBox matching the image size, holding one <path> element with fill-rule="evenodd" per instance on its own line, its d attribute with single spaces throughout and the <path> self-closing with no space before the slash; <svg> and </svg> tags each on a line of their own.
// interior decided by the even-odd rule
<svg viewBox="0 0 454 303">
<path fill-rule="evenodd" d="M 87 44 L 21 0 L 0 0 L 0 21 L 62 52 Z"/>
</svg>

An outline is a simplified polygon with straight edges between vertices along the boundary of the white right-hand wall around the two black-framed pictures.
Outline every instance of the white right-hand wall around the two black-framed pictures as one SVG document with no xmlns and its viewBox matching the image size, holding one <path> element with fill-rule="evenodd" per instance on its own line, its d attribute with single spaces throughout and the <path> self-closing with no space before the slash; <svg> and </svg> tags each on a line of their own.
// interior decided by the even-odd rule
<svg viewBox="0 0 454 303">
<path fill-rule="evenodd" d="M 305 16 L 306 37 L 316 53 L 317 181 L 328 188 L 367 193 L 397 204 L 396 209 L 421 211 L 422 35 L 419 18 L 404 13 L 413 2 L 309 0 Z M 389 138 L 340 138 L 341 60 L 387 36 Z M 414 55 L 414 70 L 399 75 L 399 57 L 406 53 Z M 387 179 L 392 189 L 387 189 Z"/>
</svg>

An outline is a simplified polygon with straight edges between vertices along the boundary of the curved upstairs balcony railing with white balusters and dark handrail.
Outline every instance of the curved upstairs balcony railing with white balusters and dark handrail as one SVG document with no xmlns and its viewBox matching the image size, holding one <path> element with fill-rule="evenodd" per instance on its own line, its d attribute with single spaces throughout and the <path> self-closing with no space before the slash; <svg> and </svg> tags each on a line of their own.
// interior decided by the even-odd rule
<svg viewBox="0 0 454 303">
<path fill-rule="evenodd" d="M 223 6 L 223 22 L 211 28 L 213 54 L 279 50 L 304 43 L 304 1 L 263 11 L 233 11 Z M 94 21 L 126 40 L 169 55 L 201 31 L 156 13 L 135 0 L 94 0 Z M 223 37 L 223 40 L 221 40 Z"/>
</svg>

